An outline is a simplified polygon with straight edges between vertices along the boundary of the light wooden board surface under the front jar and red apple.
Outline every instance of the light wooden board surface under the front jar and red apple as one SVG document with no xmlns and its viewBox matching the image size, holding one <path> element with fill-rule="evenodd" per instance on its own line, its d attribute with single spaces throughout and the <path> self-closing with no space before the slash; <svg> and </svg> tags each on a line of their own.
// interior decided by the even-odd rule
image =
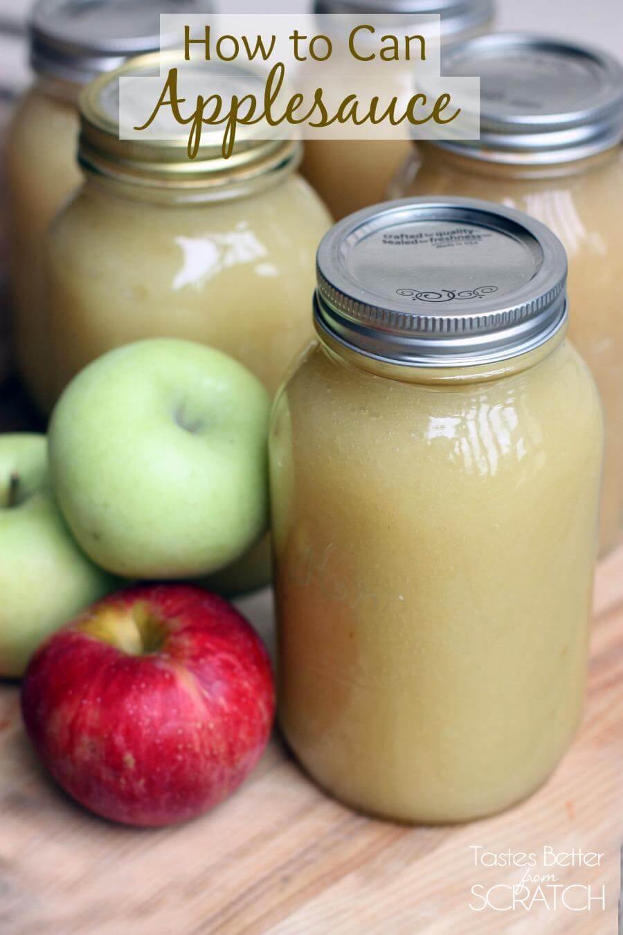
<svg viewBox="0 0 623 935">
<path fill-rule="evenodd" d="M 19 393 L 0 403 L 0 429 L 32 421 Z M 239 606 L 272 644 L 270 592 Z M 24 736 L 18 687 L 0 682 L 0 935 L 614 935 L 622 686 L 623 549 L 598 570 L 583 725 L 559 770 L 524 804 L 460 827 L 372 821 L 324 796 L 275 738 L 248 783 L 213 813 L 143 831 L 101 821 L 64 797 Z M 586 904 L 588 886 L 593 897 L 604 886 L 605 911 L 595 900 L 589 913 L 554 910 L 551 895 L 549 909 L 534 902 L 478 911 L 480 894 L 497 886 L 491 899 L 502 905 L 501 886 L 524 871 L 474 866 L 476 845 L 534 853 L 539 862 L 545 846 L 601 853 L 599 866 L 534 872 L 555 873 L 558 892 L 574 885 L 565 891 L 574 906 Z M 482 887 L 477 895 L 473 886 Z"/>
</svg>

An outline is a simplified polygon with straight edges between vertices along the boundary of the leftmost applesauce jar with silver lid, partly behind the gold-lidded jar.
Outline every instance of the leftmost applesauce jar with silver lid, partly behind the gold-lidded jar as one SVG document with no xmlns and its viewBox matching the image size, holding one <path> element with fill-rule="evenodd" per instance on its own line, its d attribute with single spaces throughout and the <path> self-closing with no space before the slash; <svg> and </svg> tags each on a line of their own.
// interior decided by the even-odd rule
<svg viewBox="0 0 623 935">
<path fill-rule="evenodd" d="M 159 49 L 158 13 L 196 7 L 194 0 L 163 0 L 157 12 L 150 0 L 81 6 L 74 0 L 39 0 L 33 11 L 30 54 L 36 77 L 7 131 L 7 188 L 17 362 L 39 406 L 50 394 L 43 243 L 52 218 L 81 181 L 78 93 L 128 55 Z"/>
</svg>

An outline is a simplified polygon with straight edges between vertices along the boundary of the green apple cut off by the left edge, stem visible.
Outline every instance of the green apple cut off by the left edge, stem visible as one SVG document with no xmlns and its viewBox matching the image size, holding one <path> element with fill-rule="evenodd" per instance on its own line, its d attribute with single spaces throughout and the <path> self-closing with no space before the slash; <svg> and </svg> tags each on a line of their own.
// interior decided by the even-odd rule
<svg viewBox="0 0 623 935">
<path fill-rule="evenodd" d="M 43 435 L 0 436 L 0 675 L 118 585 L 80 552 L 54 502 Z"/>
</svg>

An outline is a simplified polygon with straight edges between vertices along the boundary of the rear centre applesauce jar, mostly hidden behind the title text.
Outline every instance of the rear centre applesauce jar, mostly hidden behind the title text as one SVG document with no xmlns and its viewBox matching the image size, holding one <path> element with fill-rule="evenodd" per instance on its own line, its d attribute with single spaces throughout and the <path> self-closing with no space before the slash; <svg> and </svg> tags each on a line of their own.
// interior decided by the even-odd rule
<svg viewBox="0 0 623 935">
<path fill-rule="evenodd" d="M 387 14 L 389 32 L 391 18 L 396 14 L 436 14 L 441 18 L 441 42 L 447 48 L 485 32 L 493 20 L 494 4 L 493 0 L 317 0 L 316 13 L 321 31 L 327 35 L 332 33 L 333 22 L 327 14 L 348 15 L 353 23 L 366 22 L 371 14 L 375 20 Z M 380 28 L 376 33 L 382 35 Z M 361 43 L 364 39 L 362 34 L 357 41 Z M 361 54 L 371 51 L 362 50 Z M 332 79 L 333 61 L 336 74 Z M 331 85 L 332 80 L 338 85 L 343 82 L 345 68 L 347 65 L 339 63 L 333 55 L 323 73 L 324 86 Z M 406 138 L 308 139 L 301 171 L 338 221 L 351 211 L 382 201 L 389 181 L 410 149 Z"/>
</svg>

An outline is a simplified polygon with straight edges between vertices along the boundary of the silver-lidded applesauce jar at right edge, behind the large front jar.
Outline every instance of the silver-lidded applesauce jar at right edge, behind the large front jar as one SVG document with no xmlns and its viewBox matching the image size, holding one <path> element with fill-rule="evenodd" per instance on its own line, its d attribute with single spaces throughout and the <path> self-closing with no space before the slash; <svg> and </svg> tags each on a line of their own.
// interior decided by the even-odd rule
<svg viewBox="0 0 623 935">
<path fill-rule="evenodd" d="M 483 36 L 446 74 L 480 76 L 481 138 L 421 143 L 391 197 L 453 194 L 527 211 L 569 256 L 571 339 L 602 395 L 606 450 L 600 553 L 623 531 L 623 67 L 541 36 Z"/>
</svg>

